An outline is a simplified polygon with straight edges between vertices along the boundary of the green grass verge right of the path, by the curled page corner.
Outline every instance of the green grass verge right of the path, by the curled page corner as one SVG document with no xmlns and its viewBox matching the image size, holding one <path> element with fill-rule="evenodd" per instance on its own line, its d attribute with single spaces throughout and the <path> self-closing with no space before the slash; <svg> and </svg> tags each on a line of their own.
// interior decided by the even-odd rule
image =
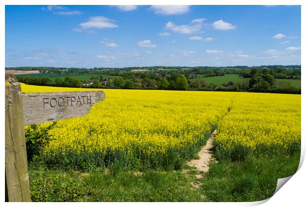
<svg viewBox="0 0 306 207">
<path fill-rule="evenodd" d="M 248 156 L 243 162 L 211 164 L 206 177 L 201 178 L 202 189 L 210 202 L 261 201 L 271 197 L 277 179 L 294 174 L 300 163 L 300 154 Z"/>
</svg>

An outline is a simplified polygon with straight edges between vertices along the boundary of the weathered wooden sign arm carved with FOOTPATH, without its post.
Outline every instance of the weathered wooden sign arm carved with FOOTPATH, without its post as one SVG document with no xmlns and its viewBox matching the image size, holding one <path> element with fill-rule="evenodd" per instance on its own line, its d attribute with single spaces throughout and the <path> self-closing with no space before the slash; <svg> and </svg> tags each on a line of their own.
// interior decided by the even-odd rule
<svg viewBox="0 0 306 207">
<path fill-rule="evenodd" d="M 84 116 L 91 106 L 105 98 L 103 91 L 56 93 L 25 93 L 23 98 L 24 124 L 38 124 Z"/>
</svg>

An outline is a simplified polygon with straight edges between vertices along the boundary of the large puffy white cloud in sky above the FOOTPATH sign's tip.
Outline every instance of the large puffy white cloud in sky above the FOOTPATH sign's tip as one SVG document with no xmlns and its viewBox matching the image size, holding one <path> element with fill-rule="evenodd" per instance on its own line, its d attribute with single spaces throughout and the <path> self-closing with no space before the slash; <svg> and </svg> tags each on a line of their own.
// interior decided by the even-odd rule
<svg viewBox="0 0 306 207">
<path fill-rule="evenodd" d="M 118 27 L 118 25 L 115 25 L 112 22 L 114 22 L 114 20 L 103 16 L 96 16 L 96 17 L 91 17 L 87 22 L 80 23 L 79 26 L 81 26 L 82 29 L 88 29 L 88 28 L 102 29 L 102 28 Z"/>
</svg>

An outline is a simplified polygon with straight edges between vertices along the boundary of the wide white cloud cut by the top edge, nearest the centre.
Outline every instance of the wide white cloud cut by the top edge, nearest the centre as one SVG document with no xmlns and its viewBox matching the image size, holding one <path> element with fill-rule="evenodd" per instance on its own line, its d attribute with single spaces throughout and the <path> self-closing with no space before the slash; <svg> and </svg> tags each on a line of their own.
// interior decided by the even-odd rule
<svg viewBox="0 0 306 207">
<path fill-rule="evenodd" d="M 152 5 L 150 8 L 155 14 L 163 15 L 185 14 L 190 11 L 189 5 Z"/>
</svg>

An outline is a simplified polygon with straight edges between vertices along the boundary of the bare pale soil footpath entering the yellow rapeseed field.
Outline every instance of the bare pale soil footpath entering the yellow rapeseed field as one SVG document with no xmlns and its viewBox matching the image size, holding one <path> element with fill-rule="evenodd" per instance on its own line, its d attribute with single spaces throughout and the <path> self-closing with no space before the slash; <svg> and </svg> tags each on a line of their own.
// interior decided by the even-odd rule
<svg viewBox="0 0 306 207">
<path fill-rule="evenodd" d="M 217 130 L 213 132 L 210 138 L 207 140 L 206 145 L 199 151 L 198 160 L 191 160 L 187 164 L 192 167 L 196 167 L 198 171 L 208 172 L 209 170 L 209 163 L 212 159 L 212 152 L 209 149 L 213 146 L 213 138 L 216 136 Z"/>
</svg>

